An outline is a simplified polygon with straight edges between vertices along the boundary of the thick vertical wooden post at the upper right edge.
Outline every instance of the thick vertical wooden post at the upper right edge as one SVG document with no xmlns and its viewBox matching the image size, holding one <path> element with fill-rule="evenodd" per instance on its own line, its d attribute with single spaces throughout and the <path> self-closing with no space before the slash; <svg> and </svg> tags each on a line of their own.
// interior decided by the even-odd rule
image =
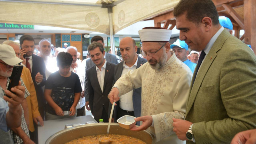
<svg viewBox="0 0 256 144">
<path fill-rule="evenodd" d="M 256 55 L 256 0 L 244 0 L 244 42 L 251 44 Z"/>
</svg>

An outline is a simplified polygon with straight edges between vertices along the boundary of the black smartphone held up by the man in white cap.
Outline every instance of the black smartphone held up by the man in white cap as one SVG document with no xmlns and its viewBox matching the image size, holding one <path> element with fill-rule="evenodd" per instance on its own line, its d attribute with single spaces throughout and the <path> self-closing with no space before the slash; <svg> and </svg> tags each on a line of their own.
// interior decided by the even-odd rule
<svg viewBox="0 0 256 144">
<path fill-rule="evenodd" d="M 23 69 L 23 66 L 22 65 L 17 65 L 17 66 L 14 66 L 13 69 L 12 69 L 12 75 L 10 77 L 10 83 L 9 83 L 9 86 L 7 88 L 7 90 L 9 90 L 10 92 L 11 91 L 11 88 L 19 85 L 19 82 L 20 82 L 20 76 L 21 76 L 21 73 L 22 73 L 22 69 Z M 14 93 L 14 92 L 12 92 Z M 15 93 L 14 93 L 15 94 Z M 8 95 L 6 95 L 7 97 L 9 97 Z M 11 98 L 11 97 L 9 97 Z"/>
</svg>

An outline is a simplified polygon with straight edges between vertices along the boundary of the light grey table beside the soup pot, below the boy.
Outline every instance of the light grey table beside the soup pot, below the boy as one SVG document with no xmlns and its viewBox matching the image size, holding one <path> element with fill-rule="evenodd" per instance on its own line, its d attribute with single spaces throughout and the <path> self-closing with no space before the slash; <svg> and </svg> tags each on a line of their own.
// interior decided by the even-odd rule
<svg viewBox="0 0 256 144">
<path fill-rule="evenodd" d="M 54 133 L 64 130 L 66 124 L 85 124 L 88 121 L 98 123 L 92 116 L 78 116 L 44 121 L 44 126 L 38 126 L 38 143 L 44 144 Z"/>
</svg>

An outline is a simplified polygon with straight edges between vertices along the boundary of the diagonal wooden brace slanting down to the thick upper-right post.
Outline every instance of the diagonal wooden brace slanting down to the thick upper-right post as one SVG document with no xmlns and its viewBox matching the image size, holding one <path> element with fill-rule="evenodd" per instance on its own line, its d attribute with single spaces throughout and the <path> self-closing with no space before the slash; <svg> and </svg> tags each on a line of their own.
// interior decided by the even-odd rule
<svg viewBox="0 0 256 144">
<path fill-rule="evenodd" d="M 222 4 L 232 18 L 238 23 L 238 25 L 244 29 L 244 20 L 237 14 L 237 12 L 228 4 Z"/>
</svg>

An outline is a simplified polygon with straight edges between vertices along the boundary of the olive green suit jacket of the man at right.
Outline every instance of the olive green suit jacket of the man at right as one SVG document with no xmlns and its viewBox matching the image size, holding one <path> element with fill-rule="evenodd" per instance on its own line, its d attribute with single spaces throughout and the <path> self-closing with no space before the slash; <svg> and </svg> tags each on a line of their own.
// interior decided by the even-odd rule
<svg viewBox="0 0 256 144">
<path fill-rule="evenodd" d="M 256 56 L 226 29 L 190 87 L 186 120 L 194 123 L 198 144 L 230 143 L 236 133 L 256 128 Z"/>
</svg>

